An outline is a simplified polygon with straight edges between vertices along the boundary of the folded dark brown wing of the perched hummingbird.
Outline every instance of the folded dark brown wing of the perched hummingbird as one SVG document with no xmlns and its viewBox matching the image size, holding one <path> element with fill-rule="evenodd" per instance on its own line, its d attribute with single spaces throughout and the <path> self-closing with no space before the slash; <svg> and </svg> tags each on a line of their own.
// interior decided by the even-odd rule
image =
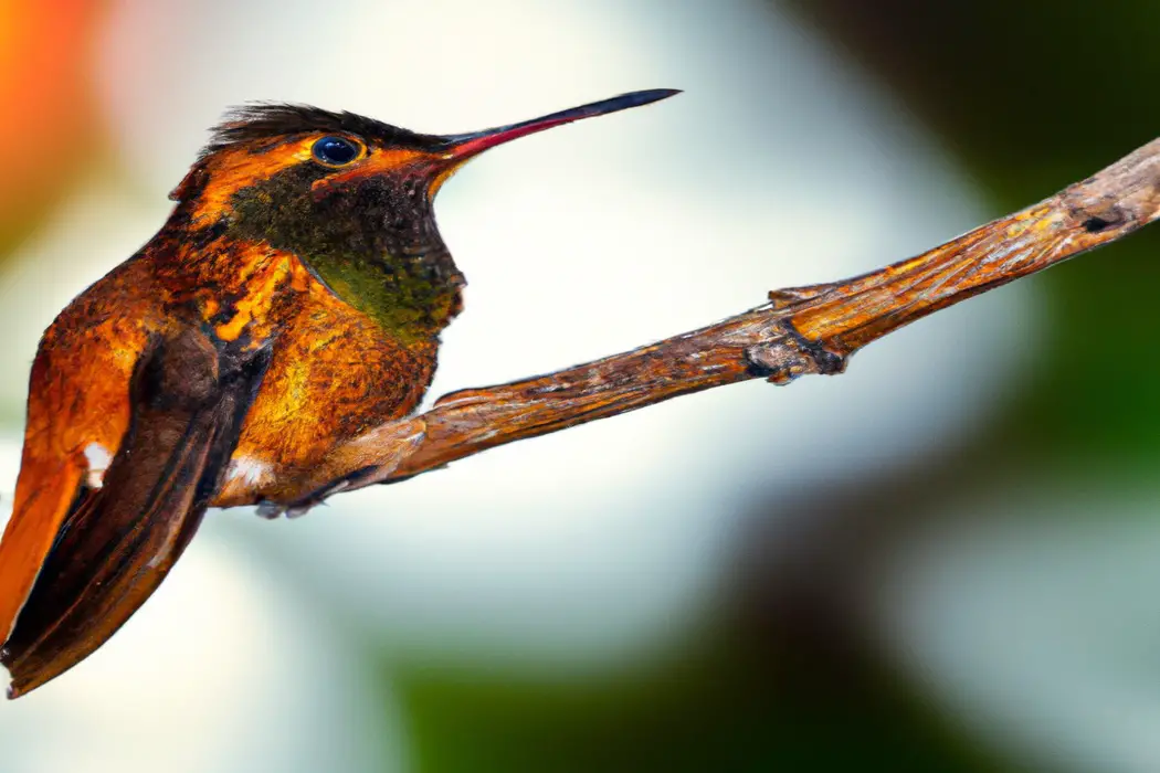
<svg viewBox="0 0 1160 773">
<path fill-rule="evenodd" d="M 43 495 L 66 510 L 43 522 L 60 525 L 0 649 L 10 698 L 92 654 L 161 583 L 218 488 L 268 363 L 268 350 L 225 353 L 194 329 L 148 343 L 103 486 L 86 489 L 66 468 L 49 487 L 60 490 Z M 35 524 L 27 531 L 35 545 Z"/>
</svg>

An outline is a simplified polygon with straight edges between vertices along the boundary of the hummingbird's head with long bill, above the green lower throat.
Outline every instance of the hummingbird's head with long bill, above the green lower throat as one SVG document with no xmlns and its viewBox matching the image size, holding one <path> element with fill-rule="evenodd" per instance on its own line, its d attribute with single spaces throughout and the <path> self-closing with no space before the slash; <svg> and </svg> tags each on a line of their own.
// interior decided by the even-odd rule
<svg viewBox="0 0 1160 773">
<path fill-rule="evenodd" d="M 171 198 L 190 225 L 226 221 L 304 256 L 335 248 L 421 249 L 432 200 L 479 153 L 553 126 L 655 102 L 655 89 L 465 134 L 421 134 L 297 104 L 233 111 Z"/>
</svg>

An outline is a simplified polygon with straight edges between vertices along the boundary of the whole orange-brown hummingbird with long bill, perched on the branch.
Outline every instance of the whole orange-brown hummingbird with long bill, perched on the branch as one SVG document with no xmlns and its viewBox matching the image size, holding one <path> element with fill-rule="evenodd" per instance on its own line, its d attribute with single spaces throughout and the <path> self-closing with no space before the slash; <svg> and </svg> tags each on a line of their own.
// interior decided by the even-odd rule
<svg viewBox="0 0 1160 773">
<path fill-rule="evenodd" d="M 302 104 L 227 114 L 161 229 L 41 340 L 0 540 L 8 697 L 113 636 L 208 508 L 298 515 L 307 471 L 415 410 L 463 307 L 433 204 L 465 162 L 676 93 L 443 136 Z"/>
</svg>

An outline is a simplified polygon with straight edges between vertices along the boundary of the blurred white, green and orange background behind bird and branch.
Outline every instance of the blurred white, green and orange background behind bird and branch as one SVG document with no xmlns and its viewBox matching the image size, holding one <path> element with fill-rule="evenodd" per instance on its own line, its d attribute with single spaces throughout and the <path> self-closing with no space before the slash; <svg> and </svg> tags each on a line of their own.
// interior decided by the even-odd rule
<svg viewBox="0 0 1160 773">
<path fill-rule="evenodd" d="M 654 87 L 441 194 L 433 395 L 690 329 L 1160 134 L 1146 0 L 0 0 L 0 501 L 36 342 L 223 110 L 456 132 Z M 1160 231 L 873 344 L 211 512 L 0 771 L 1160 770 Z M 919 352 L 919 356 L 915 356 Z M 3 518 L 7 512 L 3 511 Z"/>
</svg>

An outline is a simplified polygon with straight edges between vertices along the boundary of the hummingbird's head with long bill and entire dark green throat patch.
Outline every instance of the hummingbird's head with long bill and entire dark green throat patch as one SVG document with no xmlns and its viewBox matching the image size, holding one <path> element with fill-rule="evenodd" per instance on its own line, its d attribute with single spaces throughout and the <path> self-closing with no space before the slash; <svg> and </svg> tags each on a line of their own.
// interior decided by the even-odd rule
<svg viewBox="0 0 1160 773">
<path fill-rule="evenodd" d="M 484 151 L 581 118 L 676 94 L 624 94 L 465 134 L 421 134 L 350 112 L 296 104 L 234 111 L 171 195 L 174 221 L 300 257 L 340 297 L 369 312 L 430 316 L 457 308 L 463 277 L 435 226 L 442 184 Z M 454 296 L 454 298 L 450 298 Z M 401 311 L 400 311 L 401 309 Z M 447 319 L 435 320 L 441 327 Z"/>
</svg>

